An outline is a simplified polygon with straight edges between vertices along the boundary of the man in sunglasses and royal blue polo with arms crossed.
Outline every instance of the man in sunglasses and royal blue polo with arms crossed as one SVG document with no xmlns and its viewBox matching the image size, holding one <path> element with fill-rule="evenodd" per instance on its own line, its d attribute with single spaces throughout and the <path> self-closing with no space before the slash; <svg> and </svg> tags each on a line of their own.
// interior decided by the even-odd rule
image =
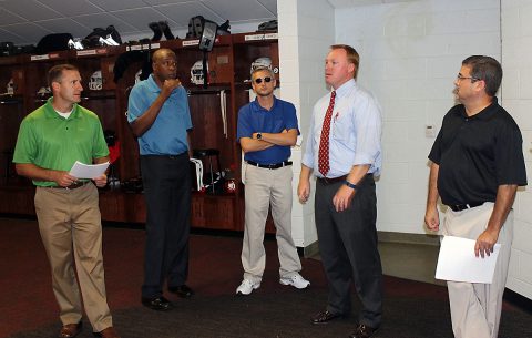
<svg viewBox="0 0 532 338">
<path fill-rule="evenodd" d="M 301 263 L 291 238 L 291 155 L 299 129 L 294 104 L 274 95 L 272 69 L 252 72 L 255 101 L 238 112 L 237 140 L 244 152 L 245 228 L 242 246 L 244 280 L 236 289 L 249 295 L 260 286 L 266 265 L 264 233 L 268 209 L 276 226 L 279 283 L 304 289 L 310 283 L 299 275 Z"/>
</svg>

